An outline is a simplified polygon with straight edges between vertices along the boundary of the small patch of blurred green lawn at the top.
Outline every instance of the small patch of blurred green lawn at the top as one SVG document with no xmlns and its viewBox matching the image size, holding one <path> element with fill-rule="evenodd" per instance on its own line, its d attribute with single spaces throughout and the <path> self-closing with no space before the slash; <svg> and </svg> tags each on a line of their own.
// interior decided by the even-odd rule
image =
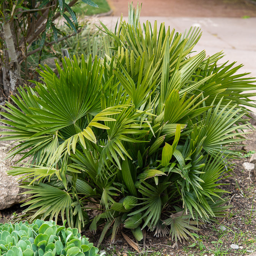
<svg viewBox="0 0 256 256">
<path fill-rule="evenodd" d="M 94 14 L 107 13 L 108 11 L 110 11 L 110 7 L 106 0 L 93 0 L 93 2 L 96 3 L 99 8 L 86 5 L 86 3 L 83 3 L 82 0 L 79 0 L 78 4 L 74 6 L 73 10 L 77 14 L 77 16 L 91 16 Z"/>
</svg>

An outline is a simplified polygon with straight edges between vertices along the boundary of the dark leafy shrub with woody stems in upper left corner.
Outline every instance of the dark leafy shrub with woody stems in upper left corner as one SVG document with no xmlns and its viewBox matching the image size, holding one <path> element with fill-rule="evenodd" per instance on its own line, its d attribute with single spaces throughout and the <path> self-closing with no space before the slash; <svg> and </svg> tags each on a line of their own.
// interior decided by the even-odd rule
<svg viewBox="0 0 256 256">
<path fill-rule="evenodd" d="M 53 49 L 56 42 L 79 32 L 77 17 L 72 10 L 77 1 L 0 0 L 0 84 L 7 96 L 14 94 L 18 85 L 27 82 L 31 68 L 27 58 L 30 55 L 40 52 L 41 56 L 45 44 Z M 91 0 L 82 1 L 98 7 Z M 57 27 L 56 21 L 60 17 L 73 30 L 71 34 L 63 36 Z M 23 62 L 21 77 L 20 65 Z"/>
</svg>

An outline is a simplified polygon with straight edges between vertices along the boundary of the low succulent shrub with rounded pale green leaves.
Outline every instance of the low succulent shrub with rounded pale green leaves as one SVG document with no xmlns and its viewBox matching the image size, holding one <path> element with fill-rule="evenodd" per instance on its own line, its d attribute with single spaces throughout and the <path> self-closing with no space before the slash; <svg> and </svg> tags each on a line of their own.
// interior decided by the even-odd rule
<svg viewBox="0 0 256 256">
<path fill-rule="evenodd" d="M 65 228 L 54 221 L 0 223 L 3 256 L 96 256 L 97 252 L 98 248 L 82 237 L 77 228 Z"/>
</svg>

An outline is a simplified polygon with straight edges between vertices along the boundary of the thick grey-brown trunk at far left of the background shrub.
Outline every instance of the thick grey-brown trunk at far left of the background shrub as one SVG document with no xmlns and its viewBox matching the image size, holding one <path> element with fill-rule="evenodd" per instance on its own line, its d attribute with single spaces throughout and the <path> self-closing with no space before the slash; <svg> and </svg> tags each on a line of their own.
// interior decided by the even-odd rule
<svg viewBox="0 0 256 256">
<path fill-rule="evenodd" d="M 14 94 L 16 91 L 16 87 L 18 85 L 18 80 L 20 77 L 20 67 L 18 64 L 17 53 L 14 46 L 14 39 L 11 33 L 11 27 L 9 22 L 4 22 L 2 24 L 3 33 L 5 35 L 5 44 L 6 51 L 8 54 L 5 58 L 5 63 L 3 65 L 3 86 L 5 93 L 8 95 Z"/>
</svg>

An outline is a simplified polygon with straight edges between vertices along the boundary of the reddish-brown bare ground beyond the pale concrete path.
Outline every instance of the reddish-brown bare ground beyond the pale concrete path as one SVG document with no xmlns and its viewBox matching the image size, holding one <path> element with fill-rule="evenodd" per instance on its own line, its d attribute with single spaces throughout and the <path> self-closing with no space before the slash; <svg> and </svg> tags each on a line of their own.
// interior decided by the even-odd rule
<svg viewBox="0 0 256 256">
<path fill-rule="evenodd" d="M 128 16 L 129 0 L 107 0 L 113 16 Z M 253 0 L 138 0 L 141 16 L 256 17 Z M 256 2 L 255 2 L 256 3 Z M 133 1 L 137 5 L 137 0 Z"/>
</svg>

